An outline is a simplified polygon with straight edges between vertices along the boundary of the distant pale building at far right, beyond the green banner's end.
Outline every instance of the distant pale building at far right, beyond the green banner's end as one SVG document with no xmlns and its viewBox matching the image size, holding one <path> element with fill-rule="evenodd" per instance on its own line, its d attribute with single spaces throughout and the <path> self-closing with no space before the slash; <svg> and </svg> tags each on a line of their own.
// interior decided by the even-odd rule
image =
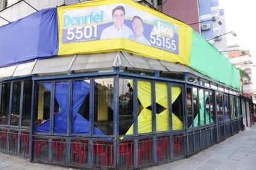
<svg viewBox="0 0 256 170">
<path fill-rule="evenodd" d="M 239 45 L 228 46 L 228 59 L 235 65 L 236 68 L 245 70 L 248 76 L 252 77 L 253 62 L 249 50 L 243 50 Z M 242 90 L 253 96 L 253 82 L 244 78 L 242 82 Z"/>
</svg>

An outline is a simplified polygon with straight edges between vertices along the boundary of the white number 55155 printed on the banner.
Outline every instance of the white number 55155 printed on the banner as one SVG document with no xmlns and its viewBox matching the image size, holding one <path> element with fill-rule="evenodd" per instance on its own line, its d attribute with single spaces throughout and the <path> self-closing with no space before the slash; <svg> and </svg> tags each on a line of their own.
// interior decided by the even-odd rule
<svg viewBox="0 0 256 170">
<path fill-rule="evenodd" d="M 150 43 L 159 47 L 172 49 L 173 51 L 176 50 L 175 40 L 171 40 L 170 38 L 161 35 L 155 35 L 154 33 L 150 34 Z"/>
</svg>

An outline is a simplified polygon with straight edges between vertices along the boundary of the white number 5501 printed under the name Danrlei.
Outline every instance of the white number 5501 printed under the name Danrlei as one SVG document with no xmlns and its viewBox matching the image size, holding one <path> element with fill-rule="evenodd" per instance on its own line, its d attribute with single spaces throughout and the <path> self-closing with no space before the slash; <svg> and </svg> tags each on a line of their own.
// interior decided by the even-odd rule
<svg viewBox="0 0 256 170">
<path fill-rule="evenodd" d="M 79 26 L 78 28 L 69 28 L 67 30 L 67 40 L 80 40 L 81 38 L 96 38 L 97 37 L 97 26 Z"/>
</svg>

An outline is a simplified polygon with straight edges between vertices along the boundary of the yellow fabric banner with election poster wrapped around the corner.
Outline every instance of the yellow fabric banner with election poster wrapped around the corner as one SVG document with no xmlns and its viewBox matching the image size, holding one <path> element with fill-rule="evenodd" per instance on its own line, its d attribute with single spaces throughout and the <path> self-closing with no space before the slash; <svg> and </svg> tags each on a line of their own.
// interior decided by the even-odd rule
<svg viewBox="0 0 256 170">
<path fill-rule="evenodd" d="M 135 1 L 90 1 L 57 14 L 58 55 L 125 50 L 189 65 L 192 28 Z"/>
</svg>

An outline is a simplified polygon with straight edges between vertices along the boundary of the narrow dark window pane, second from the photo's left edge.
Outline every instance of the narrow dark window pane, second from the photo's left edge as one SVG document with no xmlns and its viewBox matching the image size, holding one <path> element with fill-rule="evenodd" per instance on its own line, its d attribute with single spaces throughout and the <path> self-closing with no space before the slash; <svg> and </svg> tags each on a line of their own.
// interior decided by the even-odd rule
<svg viewBox="0 0 256 170">
<path fill-rule="evenodd" d="M 18 126 L 20 119 L 21 81 L 13 82 L 13 98 L 11 102 L 11 125 Z"/>
</svg>

